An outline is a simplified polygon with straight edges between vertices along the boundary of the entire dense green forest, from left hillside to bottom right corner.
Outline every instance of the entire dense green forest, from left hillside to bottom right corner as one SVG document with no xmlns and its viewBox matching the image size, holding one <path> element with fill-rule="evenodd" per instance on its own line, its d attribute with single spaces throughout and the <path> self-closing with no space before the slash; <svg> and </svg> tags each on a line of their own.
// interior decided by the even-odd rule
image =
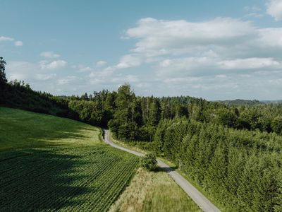
<svg viewBox="0 0 282 212">
<path fill-rule="evenodd" d="M 0 71 L 1 105 L 108 126 L 116 139 L 176 163 L 228 211 L 282 211 L 280 103 L 139 97 L 128 84 L 59 97 L 8 82 L 2 58 Z"/>
</svg>

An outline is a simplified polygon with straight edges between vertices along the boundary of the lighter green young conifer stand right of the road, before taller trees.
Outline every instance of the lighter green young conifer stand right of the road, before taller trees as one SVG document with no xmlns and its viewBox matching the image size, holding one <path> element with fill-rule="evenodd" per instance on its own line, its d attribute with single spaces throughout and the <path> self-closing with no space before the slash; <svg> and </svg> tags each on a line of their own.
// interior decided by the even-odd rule
<svg viewBox="0 0 282 212">
<path fill-rule="evenodd" d="M 227 210 L 274 211 L 281 205 L 281 144 L 276 134 L 175 119 L 159 124 L 152 146 Z"/>
</svg>

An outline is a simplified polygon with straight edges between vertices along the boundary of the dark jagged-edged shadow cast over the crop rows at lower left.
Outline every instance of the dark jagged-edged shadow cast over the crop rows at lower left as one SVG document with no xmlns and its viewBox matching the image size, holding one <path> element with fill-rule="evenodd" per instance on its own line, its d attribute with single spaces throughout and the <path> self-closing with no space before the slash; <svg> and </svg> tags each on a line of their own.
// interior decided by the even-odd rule
<svg viewBox="0 0 282 212">
<path fill-rule="evenodd" d="M 82 204 L 86 175 L 75 149 L 0 152 L 0 211 L 57 211 Z"/>
</svg>

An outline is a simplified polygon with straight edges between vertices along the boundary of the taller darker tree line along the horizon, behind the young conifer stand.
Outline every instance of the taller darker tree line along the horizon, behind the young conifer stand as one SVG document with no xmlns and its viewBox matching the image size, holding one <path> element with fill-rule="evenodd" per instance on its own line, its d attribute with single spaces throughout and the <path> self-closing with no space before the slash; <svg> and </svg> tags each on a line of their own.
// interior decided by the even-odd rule
<svg viewBox="0 0 282 212">
<path fill-rule="evenodd" d="M 8 82 L 6 62 L 3 58 L 0 61 L 1 105 L 109 126 L 118 139 L 152 141 L 161 120 L 178 117 L 233 129 L 282 134 L 282 104 L 230 106 L 189 96 L 138 97 L 128 84 L 112 92 L 102 90 L 90 95 L 54 96 L 32 90 L 23 81 Z"/>
</svg>

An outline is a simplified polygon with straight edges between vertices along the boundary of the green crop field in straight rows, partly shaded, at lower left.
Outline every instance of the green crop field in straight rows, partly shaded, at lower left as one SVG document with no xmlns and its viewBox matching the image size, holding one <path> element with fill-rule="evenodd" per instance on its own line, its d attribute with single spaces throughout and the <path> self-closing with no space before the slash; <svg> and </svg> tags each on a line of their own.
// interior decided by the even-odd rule
<svg viewBox="0 0 282 212">
<path fill-rule="evenodd" d="M 104 145 L 0 152 L 0 211 L 107 211 L 137 164 Z"/>
</svg>

